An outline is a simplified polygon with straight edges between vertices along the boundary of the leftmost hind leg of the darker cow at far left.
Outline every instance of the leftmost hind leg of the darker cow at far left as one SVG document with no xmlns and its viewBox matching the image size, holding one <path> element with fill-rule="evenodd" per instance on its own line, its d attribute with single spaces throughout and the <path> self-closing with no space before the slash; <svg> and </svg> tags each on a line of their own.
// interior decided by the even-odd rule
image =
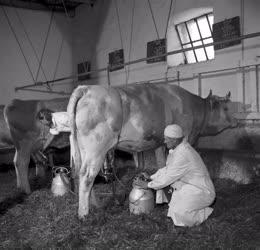
<svg viewBox="0 0 260 250">
<path fill-rule="evenodd" d="M 30 162 L 30 151 L 25 148 L 16 149 L 14 166 L 16 171 L 17 187 L 26 194 L 31 193 L 28 177 L 28 165 Z"/>
</svg>

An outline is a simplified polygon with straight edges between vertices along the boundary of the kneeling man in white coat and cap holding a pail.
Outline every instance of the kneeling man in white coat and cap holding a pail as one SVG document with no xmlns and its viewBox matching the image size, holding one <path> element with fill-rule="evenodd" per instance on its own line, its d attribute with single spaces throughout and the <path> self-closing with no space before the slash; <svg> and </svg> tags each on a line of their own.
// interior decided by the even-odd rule
<svg viewBox="0 0 260 250">
<path fill-rule="evenodd" d="M 169 149 L 166 166 L 151 175 L 150 182 L 138 179 L 136 184 L 155 190 L 170 186 L 173 193 L 168 217 L 176 226 L 199 225 L 212 213 L 213 208 L 209 206 L 215 199 L 208 170 L 200 155 L 184 138 L 180 126 L 168 125 L 164 138 Z"/>
</svg>

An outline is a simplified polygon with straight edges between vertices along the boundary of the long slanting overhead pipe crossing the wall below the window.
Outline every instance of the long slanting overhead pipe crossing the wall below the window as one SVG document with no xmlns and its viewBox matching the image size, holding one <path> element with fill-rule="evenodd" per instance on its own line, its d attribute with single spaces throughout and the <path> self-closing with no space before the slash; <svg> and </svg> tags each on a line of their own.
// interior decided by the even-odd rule
<svg viewBox="0 0 260 250">
<path fill-rule="evenodd" d="M 230 42 L 234 42 L 234 41 L 241 41 L 243 39 L 249 39 L 249 38 L 254 38 L 254 37 L 258 37 L 258 36 L 260 36 L 260 32 L 255 32 L 255 33 L 251 33 L 251 34 L 240 36 L 238 38 L 227 39 L 225 41 L 219 41 L 219 42 L 213 42 L 213 43 L 208 43 L 208 44 L 204 44 L 204 45 L 198 45 L 198 46 L 195 46 L 193 48 L 179 49 L 179 50 L 170 51 L 170 52 L 158 55 L 158 56 L 145 57 L 145 58 L 133 60 L 133 61 L 130 61 L 130 62 L 122 63 L 122 64 L 120 64 L 120 66 L 127 66 L 127 65 L 136 64 L 136 63 L 140 63 L 140 62 L 146 61 L 147 59 L 151 59 L 151 60 L 152 59 L 157 59 L 157 58 L 160 58 L 160 57 L 165 57 L 165 56 L 170 56 L 170 55 L 174 55 L 174 54 L 179 54 L 179 53 L 190 51 L 190 50 L 194 50 L 194 49 L 201 49 L 201 48 L 204 48 L 204 47 L 221 45 L 221 44 L 230 43 Z M 15 91 L 18 91 L 18 90 L 21 90 L 21 89 L 25 89 L 25 88 L 28 88 L 28 87 L 43 86 L 43 85 L 46 85 L 46 84 L 55 83 L 55 82 L 68 80 L 68 79 L 77 79 L 78 76 L 86 76 L 86 75 L 89 75 L 91 73 L 97 73 L 97 72 L 102 72 L 102 71 L 106 71 L 106 70 L 107 70 L 107 67 L 101 68 L 101 69 L 98 69 L 98 70 L 92 70 L 92 71 L 89 71 L 89 72 L 86 72 L 86 73 L 83 73 L 83 74 L 77 74 L 77 75 L 71 75 L 71 76 L 67 76 L 67 77 L 58 78 L 58 79 L 51 80 L 51 81 L 36 82 L 36 84 L 30 84 L 30 85 L 24 85 L 22 87 L 16 87 Z"/>
</svg>

